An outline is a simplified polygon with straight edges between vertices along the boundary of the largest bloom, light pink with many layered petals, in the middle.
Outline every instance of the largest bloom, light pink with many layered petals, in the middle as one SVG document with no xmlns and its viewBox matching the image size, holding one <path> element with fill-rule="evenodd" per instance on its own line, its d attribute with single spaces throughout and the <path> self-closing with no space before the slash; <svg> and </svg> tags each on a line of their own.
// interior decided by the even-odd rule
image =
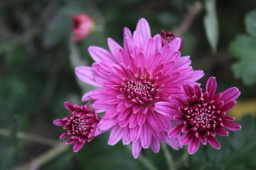
<svg viewBox="0 0 256 170">
<path fill-rule="evenodd" d="M 174 38 L 162 46 L 161 36 L 151 38 L 149 24 L 142 18 L 133 35 L 124 28 L 124 48 L 111 38 L 110 52 L 101 47 L 90 47 L 95 63 L 92 67 L 77 67 L 75 73 L 87 84 L 100 89 L 90 91 L 82 101 L 92 101 L 95 112 L 105 112 L 96 135 L 110 130 L 109 145 L 122 139 L 132 142 L 132 154 L 139 157 L 142 148 L 159 152 L 159 142 L 174 149 L 181 147 L 179 137 L 169 138 L 173 127 L 171 117 L 154 111 L 157 101 L 180 96 L 183 84 L 196 84 L 202 71 L 193 71 L 189 57 L 178 51 L 181 38 Z"/>
</svg>

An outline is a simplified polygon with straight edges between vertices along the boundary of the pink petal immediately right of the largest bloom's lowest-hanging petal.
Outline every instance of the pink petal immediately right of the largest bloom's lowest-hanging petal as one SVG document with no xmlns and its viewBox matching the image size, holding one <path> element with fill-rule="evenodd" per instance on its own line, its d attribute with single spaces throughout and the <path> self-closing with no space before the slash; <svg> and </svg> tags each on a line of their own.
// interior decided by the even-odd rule
<svg viewBox="0 0 256 170">
<path fill-rule="evenodd" d="M 141 133 L 141 136 L 140 136 L 140 141 L 141 141 L 141 144 L 142 144 L 143 148 L 146 149 L 150 146 L 151 137 L 152 137 L 151 128 L 148 125 L 148 123 L 144 123 L 144 125 L 142 125 L 142 133 Z"/>
</svg>

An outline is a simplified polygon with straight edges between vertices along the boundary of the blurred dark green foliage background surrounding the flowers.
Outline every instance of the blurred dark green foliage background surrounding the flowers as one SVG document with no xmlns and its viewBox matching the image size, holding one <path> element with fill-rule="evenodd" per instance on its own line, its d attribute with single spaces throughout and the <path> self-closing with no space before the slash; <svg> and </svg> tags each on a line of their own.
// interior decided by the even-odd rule
<svg viewBox="0 0 256 170">
<path fill-rule="evenodd" d="M 71 17 L 86 13 L 95 28 L 82 41 L 71 39 Z M 143 151 L 134 159 L 109 134 L 74 153 L 58 138 L 53 120 L 70 114 L 63 103 L 82 103 L 93 87 L 75 78 L 74 68 L 90 65 L 87 47 L 107 48 L 107 38 L 122 45 L 126 26 L 146 18 L 152 35 L 171 30 L 183 38 L 182 55 L 193 69 L 214 76 L 218 91 L 237 86 L 238 104 L 230 111 L 242 130 L 217 137 L 222 149 L 169 148 L 176 169 L 256 169 L 256 1 L 186 0 L 1 0 L 0 1 L 0 169 L 147 169 L 144 158 L 168 169 L 164 152 Z M 108 49 L 108 48 L 107 48 Z"/>
</svg>

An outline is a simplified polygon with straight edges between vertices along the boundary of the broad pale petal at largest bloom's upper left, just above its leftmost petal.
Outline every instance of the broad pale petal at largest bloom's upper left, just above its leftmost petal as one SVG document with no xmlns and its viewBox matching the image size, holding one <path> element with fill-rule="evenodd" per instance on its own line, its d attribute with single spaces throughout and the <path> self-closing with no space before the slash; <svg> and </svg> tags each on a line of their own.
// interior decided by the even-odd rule
<svg viewBox="0 0 256 170">
<path fill-rule="evenodd" d="M 102 60 L 113 62 L 112 54 L 102 47 L 90 46 L 88 48 L 88 51 L 92 59 L 95 60 L 95 62 L 101 62 Z"/>
</svg>

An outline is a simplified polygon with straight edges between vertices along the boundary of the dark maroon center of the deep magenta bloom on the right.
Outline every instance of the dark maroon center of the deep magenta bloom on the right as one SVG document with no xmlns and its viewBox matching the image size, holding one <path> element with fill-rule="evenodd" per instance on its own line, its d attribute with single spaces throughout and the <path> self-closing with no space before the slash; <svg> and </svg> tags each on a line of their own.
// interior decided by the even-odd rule
<svg viewBox="0 0 256 170">
<path fill-rule="evenodd" d="M 210 135 L 215 128 L 222 128 L 223 123 L 216 110 L 214 101 L 211 103 L 196 103 L 193 106 L 184 108 L 186 111 L 186 120 L 184 125 L 190 125 L 193 132 L 205 133 Z"/>
</svg>

